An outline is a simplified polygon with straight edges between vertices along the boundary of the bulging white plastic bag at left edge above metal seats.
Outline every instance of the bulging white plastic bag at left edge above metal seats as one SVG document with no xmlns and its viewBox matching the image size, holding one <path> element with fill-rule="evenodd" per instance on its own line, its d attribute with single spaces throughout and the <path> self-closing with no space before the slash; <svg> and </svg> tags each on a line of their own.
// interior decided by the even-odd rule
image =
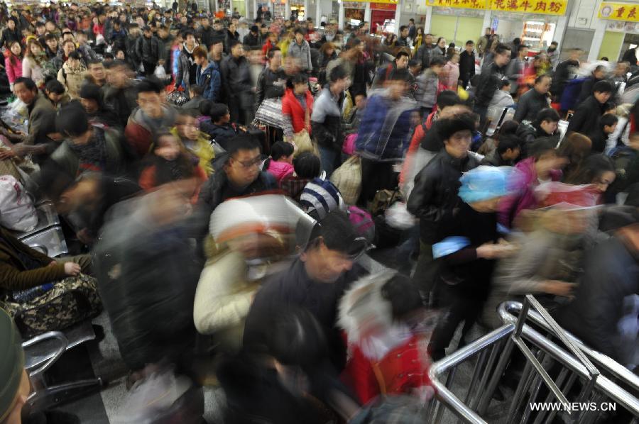
<svg viewBox="0 0 639 424">
<path fill-rule="evenodd" d="M 31 231 L 38 225 L 33 200 L 12 175 L 0 177 L 0 224 L 9 230 Z"/>
</svg>

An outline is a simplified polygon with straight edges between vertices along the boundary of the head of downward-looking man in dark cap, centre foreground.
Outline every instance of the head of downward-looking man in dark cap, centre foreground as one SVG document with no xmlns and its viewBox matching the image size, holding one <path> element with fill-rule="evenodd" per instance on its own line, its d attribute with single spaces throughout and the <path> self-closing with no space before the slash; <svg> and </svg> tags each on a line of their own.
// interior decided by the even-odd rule
<svg viewBox="0 0 639 424">
<path fill-rule="evenodd" d="M 349 271 L 367 247 L 346 213 L 337 210 L 315 224 L 300 260 L 313 281 L 330 284 Z"/>
</svg>

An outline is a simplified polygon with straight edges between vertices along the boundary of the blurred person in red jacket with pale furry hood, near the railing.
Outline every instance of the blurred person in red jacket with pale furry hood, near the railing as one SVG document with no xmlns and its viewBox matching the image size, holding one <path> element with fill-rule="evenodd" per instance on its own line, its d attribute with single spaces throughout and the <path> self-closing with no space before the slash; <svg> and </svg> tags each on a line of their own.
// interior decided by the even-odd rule
<svg viewBox="0 0 639 424">
<path fill-rule="evenodd" d="M 386 270 L 357 281 L 339 303 L 349 360 L 342 374 L 362 403 L 378 395 L 435 394 L 428 378 L 430 358 L 423 329 L 425 314 L 417 287 Z"/>
</svg>

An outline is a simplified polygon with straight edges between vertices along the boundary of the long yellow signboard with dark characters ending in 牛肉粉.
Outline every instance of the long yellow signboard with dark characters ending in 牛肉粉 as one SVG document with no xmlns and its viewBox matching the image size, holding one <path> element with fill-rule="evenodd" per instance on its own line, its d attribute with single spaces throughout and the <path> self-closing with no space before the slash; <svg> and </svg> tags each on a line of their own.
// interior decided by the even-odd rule
<svg viewBox="0 0 639 424">
<path fill-rule="evenodd" d="M 564 15 L 569 0 L 426 0 L 427 6 Z"/>
</svg>

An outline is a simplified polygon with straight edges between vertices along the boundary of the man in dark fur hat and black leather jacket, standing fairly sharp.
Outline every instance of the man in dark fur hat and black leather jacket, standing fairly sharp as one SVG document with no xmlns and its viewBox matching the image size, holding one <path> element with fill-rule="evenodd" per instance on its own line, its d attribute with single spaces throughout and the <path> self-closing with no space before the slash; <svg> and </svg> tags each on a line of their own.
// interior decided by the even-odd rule
<svg viewBox="0 0 639 424">
<path fill-rule="evenodd" d="M 459 205 L 459 177 L 479 164 L 468 155 L 475 130 L 471 114 L 442 119 L 438 128 L 444 148 L 415 177 L 415 188 L 407 204 L 408 211 L 420 218 L 421 249 L 413 281 L 423 296 L 430 294 L 437 275 L 432 245 L 453 224 L 454 210 Z"/>
</svg>

